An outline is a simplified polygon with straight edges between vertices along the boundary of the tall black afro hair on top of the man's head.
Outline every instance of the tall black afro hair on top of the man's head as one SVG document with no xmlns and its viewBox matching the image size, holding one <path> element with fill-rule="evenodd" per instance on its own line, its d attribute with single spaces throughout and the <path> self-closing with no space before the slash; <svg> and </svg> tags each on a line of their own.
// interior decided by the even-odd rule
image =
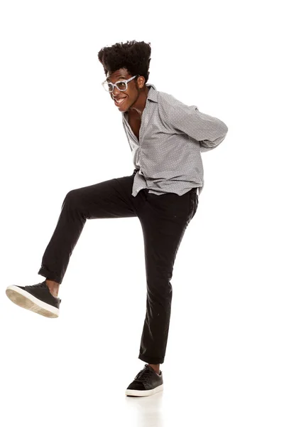
<svg viewBox="0 0 284 427">
<path fill-rule="evenodd" d="M 111 47 L 102 48 L 98 53 L 105 75 L 126 68 L 131 75 L 143 75 L 145 83 L 149 77 L 150 56 L 151 43 L 135 40 L 115 43 Z"/>
</svg>

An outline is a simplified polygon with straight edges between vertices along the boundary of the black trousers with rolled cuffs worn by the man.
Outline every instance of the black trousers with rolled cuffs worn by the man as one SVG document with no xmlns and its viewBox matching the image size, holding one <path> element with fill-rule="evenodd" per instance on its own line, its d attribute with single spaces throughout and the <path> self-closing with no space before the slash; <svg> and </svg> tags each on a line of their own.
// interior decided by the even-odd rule
<svg viewBox="0 0 284 427">
<path fill-rule="evenodd" d="M 38 274 L 62 283 L 72 251 L 86 219 L 137 216 L 143 230 L 146 263 L 146 319 L 138 359 L 162 364 L 168 341 L 175 255 L 198 205 L 196 189 L 179 196 L 151 194 L 148 189 L 131 195 L 131 176 L 110 179 L 67 193 L 53 236 Z"/>
</svg>

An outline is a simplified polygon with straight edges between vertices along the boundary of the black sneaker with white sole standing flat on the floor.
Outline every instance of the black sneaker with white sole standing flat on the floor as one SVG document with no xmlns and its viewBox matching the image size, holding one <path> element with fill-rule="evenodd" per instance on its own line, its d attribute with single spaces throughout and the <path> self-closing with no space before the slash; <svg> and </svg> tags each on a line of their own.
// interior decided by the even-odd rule
<svg viewBox="0 0 284 427">
<path fill-rule="evenodd" d="M 126 396 L 151 396 L 163 390 L 163 373 L 157 374 L 148 364 L 126 389 Z"/>
</svg>

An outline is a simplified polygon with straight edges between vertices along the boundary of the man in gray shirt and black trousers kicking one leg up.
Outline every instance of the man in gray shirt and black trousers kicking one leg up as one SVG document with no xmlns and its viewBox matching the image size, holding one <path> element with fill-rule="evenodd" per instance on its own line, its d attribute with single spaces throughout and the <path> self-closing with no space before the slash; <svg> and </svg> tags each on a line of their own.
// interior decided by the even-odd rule
<svg viewBox="0 0 284 427">
<path fill-rule="evenodd" d="M 133 174 L 70 191 L 38 271 L 46 280 L 25 287 L 11 285 L 6 290 L 17 305 L 58 317 L 59 286 L 86 220 L 137 216 L 143 230 L 147 280 L 138 358 L 146 364 L 126 389 L 129 396 L 148 396 L 163 389 L 160 364 L 170 324 L 170 279 L 204 186 L 200 152 L 217 147 L 228 130 L 224 122 L 205 115 L 195 105 L 184 105 L 146 84 L 150 44 L 116 43 L 98 53 L 107 77 L 104 89 L 121 112 L 133 155 Z"/>
</svg>

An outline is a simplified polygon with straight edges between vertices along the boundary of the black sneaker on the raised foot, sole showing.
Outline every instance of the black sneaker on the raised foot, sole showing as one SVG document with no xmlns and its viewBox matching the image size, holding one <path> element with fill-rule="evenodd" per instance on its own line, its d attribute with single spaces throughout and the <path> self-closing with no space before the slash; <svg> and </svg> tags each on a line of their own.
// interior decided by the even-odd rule
<svg viewBox="0 0 284 427">
<path fill-rule="evenodd" d="M 38 315 L 45 317 L 59 316 L 61 300 L 50 293 L 45 281 L 32 286 L 8 286 L 6 295 L 16 305 L 38 313 Z"/>
</svg>

